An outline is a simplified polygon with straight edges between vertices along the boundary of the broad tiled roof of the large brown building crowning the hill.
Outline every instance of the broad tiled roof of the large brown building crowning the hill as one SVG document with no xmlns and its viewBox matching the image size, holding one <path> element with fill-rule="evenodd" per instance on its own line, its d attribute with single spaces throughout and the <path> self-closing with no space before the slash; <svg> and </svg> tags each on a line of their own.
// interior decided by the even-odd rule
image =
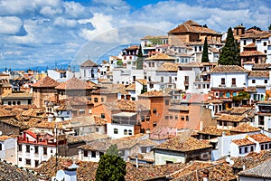
<svg viewBox="0 0 271 181">
<path fill-rule="evenodd" d="M 219 34 L 214 30 L 211 30 L 207 27 L 203 27 L 200 24 L 188 20 L 187 22 L 178 25 L 173 30 L 169 31 L 169 33 L 211 33 L 211 34 Z"/>
</svg>

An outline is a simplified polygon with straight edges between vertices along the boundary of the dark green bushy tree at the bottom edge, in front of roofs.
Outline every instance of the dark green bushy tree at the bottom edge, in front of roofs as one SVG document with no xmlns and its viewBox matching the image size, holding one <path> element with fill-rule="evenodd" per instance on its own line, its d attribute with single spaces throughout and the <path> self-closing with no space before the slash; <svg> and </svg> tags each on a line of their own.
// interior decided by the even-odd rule
<svg viewBox="0 0 271 181">
<path fill-rule="evenodd" d="M 116 153 L 118 153 L 117 146 L 113 145 L 107 149 L 105 155 L 100 157 L 96 172 L 97 181 L 125 181 L 126 162 Z"/>
</svg>

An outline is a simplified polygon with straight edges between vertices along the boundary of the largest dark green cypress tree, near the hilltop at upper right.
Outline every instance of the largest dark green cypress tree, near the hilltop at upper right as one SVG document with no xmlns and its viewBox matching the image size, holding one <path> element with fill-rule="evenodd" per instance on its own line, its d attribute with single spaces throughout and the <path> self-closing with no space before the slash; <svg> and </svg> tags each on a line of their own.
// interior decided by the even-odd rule
<svg viewBox="0 0 271 181">
<path fill-rule="evenodd" d="M 220 65 L 240 65 L 238 45 L 234 40 L 231 28 L 229 27 L 225 46 L 220 52 Z"/>
</svg>

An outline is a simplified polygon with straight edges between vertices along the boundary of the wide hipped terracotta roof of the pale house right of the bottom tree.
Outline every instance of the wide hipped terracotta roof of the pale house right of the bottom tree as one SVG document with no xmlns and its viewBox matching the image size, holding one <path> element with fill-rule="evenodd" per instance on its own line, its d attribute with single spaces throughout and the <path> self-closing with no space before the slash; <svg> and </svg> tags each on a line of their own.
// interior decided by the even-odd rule
<svg viewBox="0 0 271 181">
<path fill-rule="evenodd" d="M 211 146 L 196 138 L 192 138 L 190 133 L 183 132 L 181 135 L 166 140 L 164 143 L 158 145 L 155 148 L 186 152 L 202 148 L 211 148 Z"/>
</svg>

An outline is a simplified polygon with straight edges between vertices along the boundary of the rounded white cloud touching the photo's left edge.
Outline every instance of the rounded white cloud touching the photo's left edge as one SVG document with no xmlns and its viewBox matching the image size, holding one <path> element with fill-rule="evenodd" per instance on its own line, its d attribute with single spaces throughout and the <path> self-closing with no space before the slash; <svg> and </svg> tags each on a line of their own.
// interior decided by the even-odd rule
<svg viewBox="0 0 271 181">
<path fill-rule="evenodd" d="M 15 16 L 0 16 L 0 33 L 15 34 L 20 31 L 23 22 Z"/>
</svg>

